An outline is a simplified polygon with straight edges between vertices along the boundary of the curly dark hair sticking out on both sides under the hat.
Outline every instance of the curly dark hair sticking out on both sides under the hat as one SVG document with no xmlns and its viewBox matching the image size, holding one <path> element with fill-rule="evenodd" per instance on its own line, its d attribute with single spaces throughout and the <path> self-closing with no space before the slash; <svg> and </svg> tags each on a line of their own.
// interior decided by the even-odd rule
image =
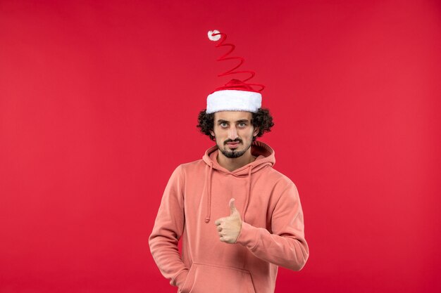
<svg viewBox="0 0 441 293">
<path fill-rule="evenodd" d="M 273 117 L 270 114 L 270 110 L 266 108 L 259 108 L 256 113 L 251 113 L 251 124 L 253 124 L 254 128 L 259 127 L 259 133 L 256 136 L 253 136 L 253 141 L 256 138 L 263 136 L 264 133 L 270 132 L 271 127 L 274 126 Z M 206 109 L 199 112 L 199 116 L 197 117 L 197 127 L 201 133 L 206 134 L 210 137 L 211 141 L 216 141 L 216 138 L 211 135 L 210 131 L 213 130 L 214 127 L 214 113 L 207 114 Z"/>
</svg>

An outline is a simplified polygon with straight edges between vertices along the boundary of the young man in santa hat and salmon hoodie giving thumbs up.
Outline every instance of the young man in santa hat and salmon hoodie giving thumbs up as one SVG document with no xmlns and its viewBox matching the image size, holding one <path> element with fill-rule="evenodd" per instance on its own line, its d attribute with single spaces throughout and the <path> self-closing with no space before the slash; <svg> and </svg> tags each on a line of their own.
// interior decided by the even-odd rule
<svg viewBox="0 0 441 293">
<path fill-rule="evenodd" d="M 256 141 L 272 117 L 258 91 L 232 79 L 209 95 L 198 126 L 216 145 L 173 171 L 151 254 L 180 293 L 274 292 L 278 266 L 299 271 L 309 249 L 297 188 Z"/>
</svg>

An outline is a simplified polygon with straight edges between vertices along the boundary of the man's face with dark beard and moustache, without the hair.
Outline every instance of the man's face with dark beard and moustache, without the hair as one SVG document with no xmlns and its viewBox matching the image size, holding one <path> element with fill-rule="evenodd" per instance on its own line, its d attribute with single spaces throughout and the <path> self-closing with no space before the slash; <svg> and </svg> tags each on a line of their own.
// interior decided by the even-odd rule
<svg viewBox="0 0 441 293">
<path fill-rule="evenodd" d="M 214 113 L 213 131 L 210 132 L 225 157 L 240 157 L 251 146 L 253 137 L 259 133 L 251 124 L 251 117 L 251 112 L 244 111 Z"/>
</svg>

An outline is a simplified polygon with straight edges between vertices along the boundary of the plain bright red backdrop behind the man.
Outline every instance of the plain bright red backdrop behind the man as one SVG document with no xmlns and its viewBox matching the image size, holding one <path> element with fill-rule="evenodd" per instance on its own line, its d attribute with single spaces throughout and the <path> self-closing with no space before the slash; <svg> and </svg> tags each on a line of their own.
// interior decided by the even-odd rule
<svg viewBox="0 0 441 293">
<path fill-rule="evenodd" d="M 302 199 L 276 292 L 441 292 L 441 4 L 350 0 L 0 1 L 0 292 L 175 292 L 147 238 L 212 145 L 214 29 Z"/>
</svg>

